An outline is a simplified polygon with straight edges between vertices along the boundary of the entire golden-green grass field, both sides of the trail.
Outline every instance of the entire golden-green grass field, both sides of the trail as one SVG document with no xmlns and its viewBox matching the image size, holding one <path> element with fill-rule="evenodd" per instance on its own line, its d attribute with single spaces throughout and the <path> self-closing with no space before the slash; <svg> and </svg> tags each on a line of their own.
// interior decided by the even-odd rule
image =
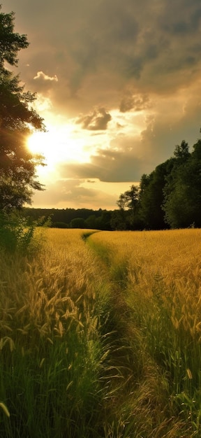
<svg viewBox="0 0 201 438">
<path fill-rule="evenodd" d="M 0 436 L 199 437 L 200 236 L 45 229 L 37 253 L 1 250 Z"/>
</svg>

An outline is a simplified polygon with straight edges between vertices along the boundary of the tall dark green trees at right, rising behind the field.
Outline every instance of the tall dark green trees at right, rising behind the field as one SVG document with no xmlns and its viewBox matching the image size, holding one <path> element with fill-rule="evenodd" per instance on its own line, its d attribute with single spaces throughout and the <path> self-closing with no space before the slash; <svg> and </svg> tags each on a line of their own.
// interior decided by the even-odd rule
<svg viewBox="0 0 201 438">
<path fill-rule="evenodd" d="M 201 227 L 201 139 L 191 152 L 181 141 L 170 159 L 143 174 L 117 204 L 112 217 L 116 229 Z"/>
</svg>

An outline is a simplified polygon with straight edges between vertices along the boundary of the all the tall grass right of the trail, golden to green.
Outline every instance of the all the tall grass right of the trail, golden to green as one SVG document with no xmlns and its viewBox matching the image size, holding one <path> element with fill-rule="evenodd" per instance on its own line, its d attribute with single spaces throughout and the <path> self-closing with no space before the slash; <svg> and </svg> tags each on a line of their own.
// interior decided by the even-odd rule
<svg viewBox="0 0 201 438">
<path fill-rule="evenodd" d="M 200 436 L 200 236 L 200 229 L 188 229 L 104 232 L 90 238 L 94 247 L 105 242 L 112 248 L 107 267 L 114 281 L 117 272 L 124 277 L 126 325 L 143 339 L 141 351 L 133 341 L 142 368 L 144 357 L 138 374 L 143 406 L 149 393 L 150 430 L 144 429 L 146 421 L 140 425 L 143 437 Z M 122 318 L 122 305 L 119 314 Z M 132 341 L 132 331 L 127 333 Z"/>
</svg>

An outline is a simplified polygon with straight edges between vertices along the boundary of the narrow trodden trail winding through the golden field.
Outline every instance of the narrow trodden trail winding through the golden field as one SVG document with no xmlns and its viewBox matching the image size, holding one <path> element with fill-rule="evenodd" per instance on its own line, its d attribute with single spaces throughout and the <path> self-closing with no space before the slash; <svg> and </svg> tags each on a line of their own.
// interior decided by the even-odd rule
<svg viewBox="0 0 201 438">
<path fill-rule="evenodd" d="M 131 308 L 126 303 L 126 287 L 127 287 L 127 267 L 124 261 L 121 261 L 119 266 L 114 266 L 114 257 L 112 250 L 104 244 L 101 246 L 94 244 L 90 239 L 93 233 L 84 234 L 83 239 L 89 245 L 91 251 L 98 257 L 101 276 L 103 276 L 108 285 L 108 293 L 110 294 L 107 324 L 103 330 L 110 333 L 110 363 L 112 367 L 118 369 L 121 374 L 122 381 L 124 380 L 124 400 L 125 393 L 129 397 L 135 390 L 135 386 L 139 385 L 136 379 L 142 374 L 142 336 L 139 330 L 136 329 L 131 318 Z M 121 382 L 122 383 L 122 382 Z M 118 385 L 118 383 L 117 383 Z M 132 388 L 132 390 L 131 390 Z M 119 395 L 119 402 L 121 397 Z"/>
</svg>

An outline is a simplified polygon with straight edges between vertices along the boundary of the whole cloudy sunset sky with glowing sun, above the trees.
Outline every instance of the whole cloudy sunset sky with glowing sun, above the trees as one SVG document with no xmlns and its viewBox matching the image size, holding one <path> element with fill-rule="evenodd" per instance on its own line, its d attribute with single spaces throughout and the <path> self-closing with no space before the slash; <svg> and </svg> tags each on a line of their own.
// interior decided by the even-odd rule
<svg viewBox="0 0 201 438">
<path fill-rule="evenodd" d="M 2 0 L 27 34 L 17 73 L 46 133 L 29 148 L 37 208 L 117 209 L 119 195 L 200 138 L 200 0 Z M 15 71 L 16 73 L 16 71 Z"/>
</svg>

